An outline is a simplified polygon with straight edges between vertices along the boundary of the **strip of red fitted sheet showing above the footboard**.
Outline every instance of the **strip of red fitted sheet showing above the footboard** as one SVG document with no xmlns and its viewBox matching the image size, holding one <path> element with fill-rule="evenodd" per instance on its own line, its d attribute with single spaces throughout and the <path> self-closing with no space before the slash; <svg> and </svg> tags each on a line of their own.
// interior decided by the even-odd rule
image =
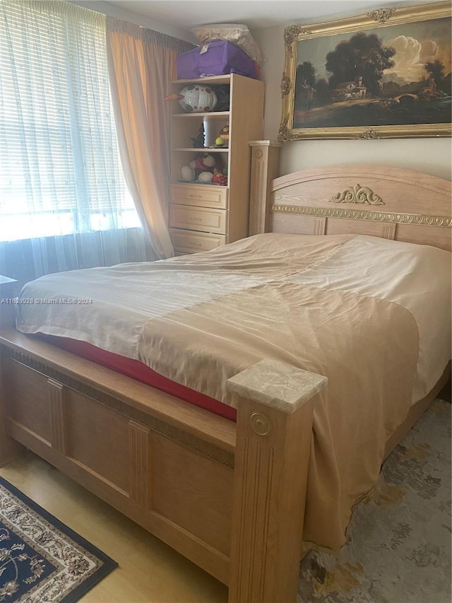
<svg viewBox="0 0 452 603">
<path fill-rule="evenodd" d="M 77 356 L 86 358 L 86 360 L 105 366 L 105 368 L 111 368 L 117 373 L 121 373 L 121 375 L 126 375 L 127 377 L 141 381 L 146 385 L 151 385 L 157 390 L 171 394 L 190 404 L 201 406 L 201 408 L 224 416 L 225 418 L 229 418 L 231 421 L 235 421 L 237 418 L 237 411 L 236 409 L 233 409 L 232 406 L 227 406 L 227 404 L 223 404 L 205 394 L 191 390 L 185 385 L 175 383 L 174 381 L 167 379 L 167 377 L 155 373 L 155 370 L 138 360 L 124 358 L 124 356 L 102 350 L 92 344 L 88 344 L 86 341 L 44 334 L 41 334 L 41 336 L 54 346 L 58 346 Z"/>
</svg>

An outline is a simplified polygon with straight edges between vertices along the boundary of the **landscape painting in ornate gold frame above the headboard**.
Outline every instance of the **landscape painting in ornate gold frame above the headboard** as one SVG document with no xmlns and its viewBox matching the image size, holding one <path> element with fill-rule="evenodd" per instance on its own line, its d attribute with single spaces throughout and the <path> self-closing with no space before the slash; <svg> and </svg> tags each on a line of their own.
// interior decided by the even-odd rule
<svg viewBox="0 0 452 603">
<path fill-rule="evenodd" d="M 285 28 L 278 139 L 451 136 L 451 3 Z"/>
</svg>

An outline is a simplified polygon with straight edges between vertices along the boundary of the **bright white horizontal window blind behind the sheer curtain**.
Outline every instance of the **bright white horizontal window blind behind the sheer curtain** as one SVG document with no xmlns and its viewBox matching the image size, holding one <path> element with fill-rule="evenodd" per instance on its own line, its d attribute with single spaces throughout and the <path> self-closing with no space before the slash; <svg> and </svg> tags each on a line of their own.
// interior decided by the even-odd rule
<svg viewBox="0 0 452 603">
<path fill-rule="evenodd" d="M 131 226 L 105 16 L 0 0 L 0 240 Z"/>
</svg>

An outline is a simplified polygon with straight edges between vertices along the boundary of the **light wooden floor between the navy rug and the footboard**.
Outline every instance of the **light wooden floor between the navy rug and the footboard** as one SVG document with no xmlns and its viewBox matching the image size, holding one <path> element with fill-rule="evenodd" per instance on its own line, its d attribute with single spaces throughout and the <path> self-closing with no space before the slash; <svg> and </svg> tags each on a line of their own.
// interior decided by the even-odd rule
<svg viewBox="0 0 452 603">
<path fill-rule="evenodd" d="M 32 453 L 0 475 L 119 563 L 83 603 L 227 602 L 227 587 Z"/>
</svg>

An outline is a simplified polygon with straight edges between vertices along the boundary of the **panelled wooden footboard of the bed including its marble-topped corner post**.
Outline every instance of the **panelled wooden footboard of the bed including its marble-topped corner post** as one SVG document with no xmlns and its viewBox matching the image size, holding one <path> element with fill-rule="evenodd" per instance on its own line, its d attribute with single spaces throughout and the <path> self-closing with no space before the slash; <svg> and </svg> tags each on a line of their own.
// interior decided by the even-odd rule
<svg viewBox="0 0 452 603">
<path fill-rule="evenodd" d="M 230 603 L 295 602 L 326 377 L 257 363 L 227 382 L 235 425 L 13 329 L 0 351 L 8 440 L 229 585 Z"/>
</svg>

